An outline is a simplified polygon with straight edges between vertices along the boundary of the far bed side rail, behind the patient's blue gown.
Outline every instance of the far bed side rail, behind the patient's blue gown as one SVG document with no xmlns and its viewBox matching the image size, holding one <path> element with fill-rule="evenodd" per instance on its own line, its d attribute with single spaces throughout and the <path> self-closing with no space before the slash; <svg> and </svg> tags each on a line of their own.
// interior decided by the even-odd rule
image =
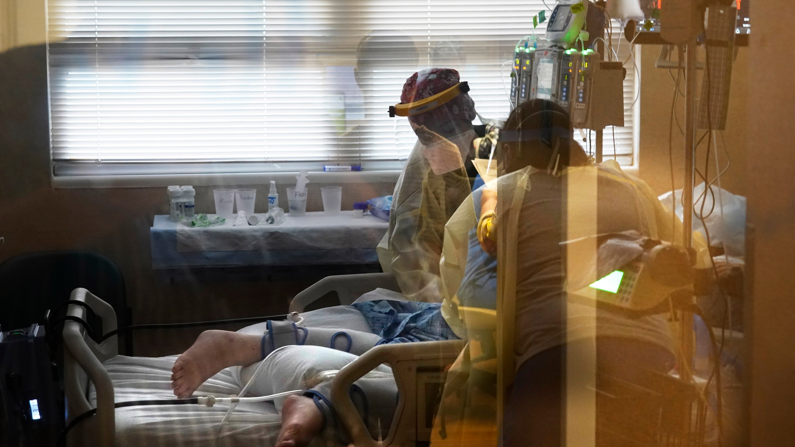
<svg viewBox="0 0 795 447">
<path fill-rule="evenodd" d="M 326 293 L 336 292 L 339 297 L 339 304 L 350 305 L 356 298 L 364 293 L 378 288 L 394 290 L 400 292 L 397 280 L 391 273 L 364 273 L 364 274 L 341 274 L 328 276 L 312 284 L 306 290 L 298 293 L 293 301 L 290 301 L 290 312 L 304 312 L 306 306 L 320 299 Z"/>
</svg>

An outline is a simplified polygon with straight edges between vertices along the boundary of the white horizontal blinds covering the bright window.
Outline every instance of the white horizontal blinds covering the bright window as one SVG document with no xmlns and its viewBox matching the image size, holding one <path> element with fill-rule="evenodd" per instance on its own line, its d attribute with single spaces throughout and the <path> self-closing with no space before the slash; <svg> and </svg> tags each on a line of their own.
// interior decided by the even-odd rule
<svg viewBox="0 0 795 447">
<path fill-rule="evenodd" d="M 51 0 L 55 173 L 386 166 L 416 141 L 386 111 L 418 69 L 456 68 L 479 114 L 505 118 L 504 63 L 543 9 L 541 0 Z M 380 46 L 364 51 L 366 36 Z M 633 99 L 630 65 L 625 103 Z M 623 163 L 632 112 L 615 130 Z M 611 155 L 610 129 L 604 147 Z"/>
</svg>

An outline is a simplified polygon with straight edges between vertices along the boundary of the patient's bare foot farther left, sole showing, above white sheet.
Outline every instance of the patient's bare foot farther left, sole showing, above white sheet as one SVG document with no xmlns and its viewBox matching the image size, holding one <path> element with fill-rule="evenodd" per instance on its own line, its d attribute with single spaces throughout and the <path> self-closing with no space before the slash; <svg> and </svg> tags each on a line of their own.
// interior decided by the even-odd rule
<svg viewBox="0 0 795 447">
<path fill-rule="evenodd" d="M 171 368 L 177 398 L 189 398 L 205 380 L 225 367 L 247 366 L 260 359 L 260 338 L 229 331 L 204 331 Z"/>
</svg>

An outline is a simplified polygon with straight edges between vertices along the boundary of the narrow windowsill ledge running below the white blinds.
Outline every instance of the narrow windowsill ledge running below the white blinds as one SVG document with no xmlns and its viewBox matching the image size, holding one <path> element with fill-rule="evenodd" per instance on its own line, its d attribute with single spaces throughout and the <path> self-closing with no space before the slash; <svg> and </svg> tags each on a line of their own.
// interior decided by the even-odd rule
<svg viewBox="0 0 795 447">
<path fill-rule="evenodd" d="M 394 183 L 401 171 L 384 169 L 372 171 L 310 172 L 310 183 Z M 136 175 L 91 175 L 52 177 L 56 189 L 80 188 L 155 188 L 169 185 L 262 185 L 276 181 L 278 185 L 296 182 L 297 172 L 287 173 L 184 173 L 184 174 L 136 174 Z"/>
</svg>

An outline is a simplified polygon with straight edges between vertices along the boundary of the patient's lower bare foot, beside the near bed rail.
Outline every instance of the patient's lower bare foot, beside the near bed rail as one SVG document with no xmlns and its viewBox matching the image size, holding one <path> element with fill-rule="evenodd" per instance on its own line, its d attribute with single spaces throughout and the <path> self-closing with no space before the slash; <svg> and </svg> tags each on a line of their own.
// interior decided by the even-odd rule
<svg viewBox="0 0 795 447">
<path fill-rule="evenodd" d="M 311 398 L 289 396 L 281 407 L 281 431 L 276 447 L 304 447 L 322 428 L 323 414 Z"/>
</svg>

